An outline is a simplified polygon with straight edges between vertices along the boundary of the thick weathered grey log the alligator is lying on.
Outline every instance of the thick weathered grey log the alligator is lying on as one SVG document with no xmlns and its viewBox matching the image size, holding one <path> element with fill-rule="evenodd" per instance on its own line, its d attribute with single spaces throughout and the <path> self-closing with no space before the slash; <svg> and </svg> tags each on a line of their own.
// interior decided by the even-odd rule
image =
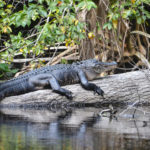
<svg viewBox="0 0 150 150">
<path fill-rule="evenodd" d="M 100 86 L 105 92 L 104 97 L 94 95 L 80 84 L 67 85 L 64 88 L 73 92 L 73 100 L 52 92 L 52 90 L 38 90 L 22 95 L 6 97 L 0 106 L 49 106 L 69 105 L 75 103 L 135 103 L 150 102 L 150 71 L 141 70 L 116 74 L 91 81 Z"/>
</svg>

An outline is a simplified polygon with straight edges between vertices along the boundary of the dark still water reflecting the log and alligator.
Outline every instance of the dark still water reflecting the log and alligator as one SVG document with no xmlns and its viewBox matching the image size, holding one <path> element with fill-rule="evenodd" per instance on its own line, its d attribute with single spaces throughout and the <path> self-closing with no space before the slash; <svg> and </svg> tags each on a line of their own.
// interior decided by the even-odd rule
<svg viewBox="0 0 150 150">
<path fill-rule="evenodd" d="M 149 108 L 0 110 L 0 150 L 149 150 Z M 121 113 L 122 112 L 122 113 Z"/>
</svg>

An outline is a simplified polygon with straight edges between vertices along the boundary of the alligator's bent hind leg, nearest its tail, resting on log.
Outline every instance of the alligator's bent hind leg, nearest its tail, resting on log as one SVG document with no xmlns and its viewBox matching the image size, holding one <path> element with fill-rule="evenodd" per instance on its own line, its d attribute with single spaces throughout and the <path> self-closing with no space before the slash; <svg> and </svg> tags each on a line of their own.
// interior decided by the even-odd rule
<svg viewBox="0 0 150 150">
<path fill-rule="evenodd" d="M 72 99 L 72 92 L 61 88 L 58 81 L 53 75 L 49 74 L 39 74 L 35 77 L 29 79 L 29 82 L 33 84 L 35 87 L 37 86 L 47 86 L 50 84 L 52 90 L 56 93 L 66 96 L 68 99 Z"/>
</svg>

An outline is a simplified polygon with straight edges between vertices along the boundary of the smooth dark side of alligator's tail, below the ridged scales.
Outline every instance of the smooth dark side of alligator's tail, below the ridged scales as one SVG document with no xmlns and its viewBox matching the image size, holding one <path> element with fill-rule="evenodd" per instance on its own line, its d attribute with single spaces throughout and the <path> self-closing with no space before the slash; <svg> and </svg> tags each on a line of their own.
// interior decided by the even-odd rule
<svg viewBox="0 0 150 150">
<path fill-rule="evenodd" d="M 34 90 L 34 86 L 29 84 L 28 81 L 25 81 L 14 86 L 10 86 L 0 91 L 0 100 L 2 100 L 3 98 L 7 96 L 20 95 L 23 93 L 31 92 L 33 90 Z"/>
</svg>

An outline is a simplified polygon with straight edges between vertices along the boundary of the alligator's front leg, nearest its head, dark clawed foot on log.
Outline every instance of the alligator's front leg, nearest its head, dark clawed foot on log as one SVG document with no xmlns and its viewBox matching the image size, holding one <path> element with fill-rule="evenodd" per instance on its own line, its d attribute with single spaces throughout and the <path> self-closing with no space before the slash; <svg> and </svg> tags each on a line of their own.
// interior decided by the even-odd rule
<svg viewBox="0 0 150 150">
<path fill-rule="evenodd" d="M 89 83 L 82 70 L 78 71 L 78 76 L 79 76 L 79 79 L 83 88 L 85 88 L 86 90 L 92 90 L 94 91 L 94 93 L 97 93 L 98 95 L 103 96 L 104 91 L 100 87 L 98 87 L 96 84 Z"/>
</svg>

